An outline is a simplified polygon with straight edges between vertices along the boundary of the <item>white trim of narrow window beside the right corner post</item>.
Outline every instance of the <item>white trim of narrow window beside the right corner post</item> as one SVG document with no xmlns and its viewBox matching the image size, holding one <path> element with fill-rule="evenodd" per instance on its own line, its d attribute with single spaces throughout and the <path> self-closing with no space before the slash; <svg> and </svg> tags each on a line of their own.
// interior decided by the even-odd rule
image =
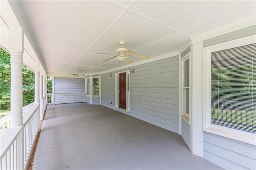
<svg viewBox="0 0 256 170">
<path fill-rule="evenodd" d="M 181 117 L 183 115 L 186 115 L 188 117 L 188 121 L 186 119 L 184 119 L 184 117 L 182 117 L 182 119 L 184 119 L 184 121 L 186 121 L 189 125 L 190 125 L 190 117 L 191 117 L 191 75 L 192 75 L 192 69 L 191 69 L 191 57 L 190 57 L 190 53 L 186 54 L 184 57 L 182 57 L 181 59 L 181 90 L 180 90 L 180 93 L 181 93 L 181 108 L 182 108 L 182 113 L 181 113 Z M 184 62 L 186 60 L 189 59 L 189 114 L 187 113 L 184 113 Z"/>
</svg>

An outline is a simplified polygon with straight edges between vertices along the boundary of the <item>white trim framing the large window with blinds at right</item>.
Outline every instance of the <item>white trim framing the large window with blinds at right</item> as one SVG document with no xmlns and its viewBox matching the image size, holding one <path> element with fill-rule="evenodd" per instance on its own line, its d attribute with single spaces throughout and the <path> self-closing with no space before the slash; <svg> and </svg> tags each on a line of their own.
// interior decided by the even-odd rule
<svg viewBox="0 0 256 170">
<path fill-rule="evenodd" d="M 211 123 L 211 53 L 256 43 L 256 35 L 231 40 L 203 48 L 203 127 L 204 131 L 256 145 L 256 134 Z"/>
</svg>

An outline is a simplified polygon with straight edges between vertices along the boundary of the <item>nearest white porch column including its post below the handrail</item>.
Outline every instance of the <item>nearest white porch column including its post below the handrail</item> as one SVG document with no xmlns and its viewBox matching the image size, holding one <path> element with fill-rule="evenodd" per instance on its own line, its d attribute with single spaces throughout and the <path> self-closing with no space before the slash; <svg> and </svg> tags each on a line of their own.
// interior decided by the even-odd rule
<svg viewBox="0 0 256 170">
<path fill-rule="evenodd" d="M 22 63 L 24 33 L 19 29 L 9 29 L 9 49 L 11 63 L 11 127 L 21 127 L 16 148 L 17 169 L 24 168 L 24 127 L 22 116 Z"/>
</svg>

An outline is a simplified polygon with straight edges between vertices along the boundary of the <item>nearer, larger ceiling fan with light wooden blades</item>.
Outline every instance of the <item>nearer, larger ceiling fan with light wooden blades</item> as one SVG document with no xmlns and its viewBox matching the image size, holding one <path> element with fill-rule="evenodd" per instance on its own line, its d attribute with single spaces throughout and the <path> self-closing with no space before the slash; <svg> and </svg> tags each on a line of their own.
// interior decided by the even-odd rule
<svg viewBox="0 0 256 170">
<path fill-rule="evenodd" d="M 128 63 L 128 64 L 132 63 L 132 61 L 128 58 L 128 55 L 130 55 L 132 57 L 149 59 L 149 57 L 147 57 L 147 56 L 134 54 L 133 51 L 130 51 L 129 49 L 124 48 L 124 43 L 125 43 L 124 41 L 120 41 L 119 43 L 121 45 L 121 48 L 117 48 L 115 53 L 97 53 L 97 54 L 117 54 L 113 57 L 105 59 L 104 61 L 108 61 L 108 60 L 116 57 L 116 59 L 118 59 L 119 61 L 125 61 L 125 63 Z"/>
</svg>

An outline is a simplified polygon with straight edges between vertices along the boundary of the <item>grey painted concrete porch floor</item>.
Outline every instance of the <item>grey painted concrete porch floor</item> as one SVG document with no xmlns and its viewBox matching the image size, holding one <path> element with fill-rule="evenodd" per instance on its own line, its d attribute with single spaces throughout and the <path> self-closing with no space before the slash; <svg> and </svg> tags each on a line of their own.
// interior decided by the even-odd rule
<svg viewBox="0 0 256 170">
<path fill-rule="evenodd" d="M 180 135 L 101 105 L 50 105 L 32 169 L 222 169 Z"/>
</svg>

